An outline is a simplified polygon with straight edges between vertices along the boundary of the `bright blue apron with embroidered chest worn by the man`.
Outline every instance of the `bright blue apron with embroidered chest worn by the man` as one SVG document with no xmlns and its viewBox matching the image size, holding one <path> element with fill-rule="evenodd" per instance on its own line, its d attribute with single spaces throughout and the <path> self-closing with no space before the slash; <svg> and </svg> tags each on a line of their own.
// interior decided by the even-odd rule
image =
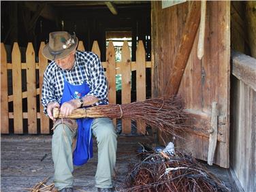
<svg viewBox="0 0 256 192">
<path fill-rule="evenodd" d="M 65 74 L 63 73 L 64 90 L 61 99 L 61 105 L 71 99 L 82 98 L 89 93 L 91 89 L 83 80 L 80 85 L 73 85 L 67 82 Z M 77 118 L 78 123 L 76 148 L 73 152 L 74 165 L 83 165 L 93 157 L 93 137 L 91 134 L 91 125 L 93 118 Z"/>
</svg>

